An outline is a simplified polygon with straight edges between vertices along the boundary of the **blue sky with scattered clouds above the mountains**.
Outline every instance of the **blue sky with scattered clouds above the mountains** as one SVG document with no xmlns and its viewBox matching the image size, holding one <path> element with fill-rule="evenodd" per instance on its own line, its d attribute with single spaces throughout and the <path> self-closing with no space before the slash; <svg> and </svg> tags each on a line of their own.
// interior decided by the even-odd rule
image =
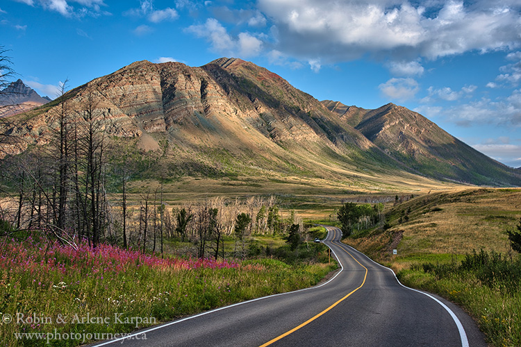
<svg viewBox="0 0 521 347">
<path fill-rule="evenodd" d="M 136 60 L 249 60 L 319 100 L 420 112 L 521 167 L 521 0 L 2 0 L 16 78 L 56 96 Z"/>
</svg>

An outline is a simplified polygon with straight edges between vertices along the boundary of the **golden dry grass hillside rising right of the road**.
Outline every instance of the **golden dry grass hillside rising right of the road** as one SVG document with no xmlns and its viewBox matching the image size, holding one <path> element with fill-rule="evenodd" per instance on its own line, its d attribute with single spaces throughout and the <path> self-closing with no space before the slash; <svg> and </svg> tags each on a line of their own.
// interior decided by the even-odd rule
<svg viewBox="0 0 521 347">
<path fill-rule="evenodd" d="M 391 228 L 347 242 L 396 270 L 417 261 L 449 261 L 481 248 L 508 253 L 504 230 L 521 218 L 521 188 L 452 189 L 417 196 L 387 212 Z"/>
</svg>

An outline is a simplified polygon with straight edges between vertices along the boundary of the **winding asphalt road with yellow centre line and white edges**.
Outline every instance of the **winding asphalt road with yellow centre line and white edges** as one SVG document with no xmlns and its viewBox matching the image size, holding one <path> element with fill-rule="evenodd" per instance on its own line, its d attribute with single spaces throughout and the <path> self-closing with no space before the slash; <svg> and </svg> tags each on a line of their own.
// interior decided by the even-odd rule
<svg viewBox="0 0 521 347">
<path fill-rule="evenodd" d="M 477 346 L 463 310 L 402 286 L 395 274 L 327 227 L 324 244 L 342 269 L 323 285 L 267 296 L 140 330 L 92 346 Z"/>
</svg>

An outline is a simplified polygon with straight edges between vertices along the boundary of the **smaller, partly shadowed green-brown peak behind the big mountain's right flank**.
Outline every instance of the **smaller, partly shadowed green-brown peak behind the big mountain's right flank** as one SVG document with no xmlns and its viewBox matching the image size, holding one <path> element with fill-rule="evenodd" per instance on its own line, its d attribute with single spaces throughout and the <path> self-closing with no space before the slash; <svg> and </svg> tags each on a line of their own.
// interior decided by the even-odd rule
<svg viewBox="0 0 521 347">
<path fill-rule="evenodd" d="M 392 158 L 421 174 L 478 185 L 520 184 L 515 170 L 472 149 L 417 112 L 392 103 L 376 110 L 323 103 Z"/>
</svg>

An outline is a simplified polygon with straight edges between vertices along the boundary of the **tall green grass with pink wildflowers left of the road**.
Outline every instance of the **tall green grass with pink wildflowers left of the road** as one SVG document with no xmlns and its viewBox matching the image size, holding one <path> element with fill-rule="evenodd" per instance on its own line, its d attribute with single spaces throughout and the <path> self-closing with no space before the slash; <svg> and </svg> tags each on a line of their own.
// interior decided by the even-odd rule
<svg viewBox="0 0 521 347">
<path fill-rule="evenodd" d="M 0 247 L 2 346 L 45 343 L 17 339 L 15 333 L 19 332 L 52 333 L 56 329 L 82 336 L 130 332 L 149 323 L 308 287 L 336 266 L 292 266 L 273 259 L 162 259 L 108 245 L 96 249 L 87 244 L 41 246 L 31 239 L 10 240 Z M 129 323 L 117 323 L 115 315 L 119 321 L 127 319 Z M 12 322 L 6 320 L 8 316 Z M 78 323 L 87 317 L 108 319 L 108 323 Z M 131 321 L 133 317 L 142 321 Z M 77 346 L 85 342 L 59 339 L 51 344 Z"/>
</svg>

